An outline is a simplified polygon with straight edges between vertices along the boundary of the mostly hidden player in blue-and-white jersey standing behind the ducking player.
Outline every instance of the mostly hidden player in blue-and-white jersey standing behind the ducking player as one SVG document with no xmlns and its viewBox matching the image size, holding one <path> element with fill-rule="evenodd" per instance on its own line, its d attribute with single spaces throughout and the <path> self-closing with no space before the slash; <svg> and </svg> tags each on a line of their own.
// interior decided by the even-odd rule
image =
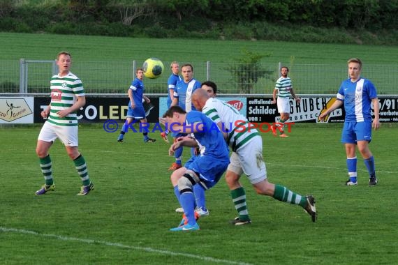
<svg viewBox="0 0 398 265">
<path fill-rule="evenodd" d="M 170 106 L 178 105 L 182 107 L 186 112 L 190 112 L 191 110 L 195 110 L 195 107 L 192 105 L 192 93 L 196 89 L 200 88 L 200 82 L 193 78 L 193 66 L 189 63 L 184 64 L 181 67 L 182 77 L 183 79 L 177 82 L 175 85 L 175 90 L 173 93 L 174 98 L 172 99 L 172 103 Z M 175 134 L 175 138 L 182 137 L 184 134 L 177 133 Z M 182 147 L 175 151 L 175 162 L 172 163 L 169 170 L 175 170 L 182 167 Z"/>
</svg>

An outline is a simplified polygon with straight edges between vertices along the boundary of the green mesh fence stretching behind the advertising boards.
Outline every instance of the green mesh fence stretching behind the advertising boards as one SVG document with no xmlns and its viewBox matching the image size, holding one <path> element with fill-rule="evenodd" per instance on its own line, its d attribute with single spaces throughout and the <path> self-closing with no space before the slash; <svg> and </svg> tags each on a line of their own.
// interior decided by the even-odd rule
<svg viewBox="0 0 398 265">
<path fill-rule="evenodd" d="M 180 66 L 184 62 L 179 62 Z M 157 79 L 144 79 L 146 93 L 167 93 L 170 62 L 163 61 L 164 73 Z M 194 77 L 198 81 L 212 80 L 219 93 L 271 94 L 279 77 L 279 63 L 244 65 L 239 63 L 193 62 Z M 71 68 L 84 84 L 86 93 L 126 93 L 135 68 L 141 61 L 78 61 Z M 289 66 L 289 76 L 297 94 L 335 94 L 343 79 L 348 78 L 346 63 L 297 63 Z M 0 93 L 48 93 L 50 77 L 57 73 L 54 61 L 0 61 Z M 242 70 L 244 69 L 244 70 Z M 248 70 L 249 69 L 249 70 Z M 268 73 L 256 76 L 258 70 Z M 254 75 L 253 75 L 254 73 Z M 251 76 L 253 75 L 253 76 Z M 394 65 L 364 65 L 362 76 L 375 84 L 380 95 L 397 94 L 398 63 Z M 244 82 L 240 82 L 245 77 Z"/>
</svg>

